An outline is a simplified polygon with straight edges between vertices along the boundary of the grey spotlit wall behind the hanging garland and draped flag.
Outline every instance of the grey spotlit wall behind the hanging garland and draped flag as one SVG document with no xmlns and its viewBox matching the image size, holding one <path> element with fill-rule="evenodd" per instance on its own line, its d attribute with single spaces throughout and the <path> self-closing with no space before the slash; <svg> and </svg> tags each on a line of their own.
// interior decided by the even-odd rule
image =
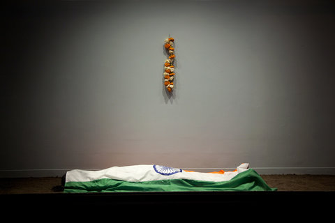
<svg viewBox="0 0 335 223">
<path fill-rule="evenodd" d="M 334 12 L 327 1 L 10 4 L 0 175 L 241 162 L 335 174 Z"/>
</svg>

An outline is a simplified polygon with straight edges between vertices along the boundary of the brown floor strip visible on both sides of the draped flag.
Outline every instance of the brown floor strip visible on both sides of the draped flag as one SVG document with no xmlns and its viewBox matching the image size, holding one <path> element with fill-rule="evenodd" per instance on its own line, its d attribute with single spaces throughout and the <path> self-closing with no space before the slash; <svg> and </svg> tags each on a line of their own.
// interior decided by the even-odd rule
<svg viewBox="0 0 335 223">
<path fill-rule="evenodd" d="M 335 175 L 261 175 L 278 191 L 335 191 Z M 60 177 L 0 178 L 0 194 L 61 193 Z"/>
</svg>

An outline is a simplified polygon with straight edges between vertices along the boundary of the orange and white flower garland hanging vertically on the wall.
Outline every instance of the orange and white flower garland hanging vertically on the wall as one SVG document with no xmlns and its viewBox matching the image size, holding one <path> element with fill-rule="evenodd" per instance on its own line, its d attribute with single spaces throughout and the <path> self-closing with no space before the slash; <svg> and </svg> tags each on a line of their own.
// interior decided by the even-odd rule
<svg viewBox="0 0 335 223">
<path fill-rule="evenodd" d="M 174 55 L 174 48 L 173 48 L 173 43 L 174 43 L 174 38 L 166 38 L 164 40 L 164 47 L 165 49 L 167 49 L 168 51 L 168 55 L 169 55 L 169 59 L 165 60 L 164 63 L 164 85 L 166 87 L 166 89 L 168 89 L 169 92 L 171 92 L 173 90 L 173 79 L 174 79 L 174 75 L 176 75 L 174 73 L 174 66 L 173 66 L 173 61 L 174 61 L 174 57 L 176 57 L 176 55 Z"/>
</svg>

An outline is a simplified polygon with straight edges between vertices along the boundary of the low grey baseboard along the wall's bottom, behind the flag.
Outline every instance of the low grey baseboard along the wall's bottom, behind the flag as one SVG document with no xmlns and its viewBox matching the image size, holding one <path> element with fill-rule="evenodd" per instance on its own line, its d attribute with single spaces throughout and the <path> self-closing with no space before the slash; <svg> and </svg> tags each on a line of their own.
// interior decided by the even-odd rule
<svg viewBox="0 0 335 223">
<path fill-rule="evenodd" d="M 335 175 L 335 167 L 251 167 L 258 174 L 331 174 Z M 75 168 L 82 169 L 82 168 Z M 191 171 L 211 172 L 223 169 L 232 171 L 236 167 L 209 167 L 209 168 L 181 168 Z M 20 177 L 57 177 L 66 174 L 70 169 L 3 169 L 0 170 L 0 178 L 20 178 Z M 86 169 L 100 170 L 100 169 Z"/>
</svg>

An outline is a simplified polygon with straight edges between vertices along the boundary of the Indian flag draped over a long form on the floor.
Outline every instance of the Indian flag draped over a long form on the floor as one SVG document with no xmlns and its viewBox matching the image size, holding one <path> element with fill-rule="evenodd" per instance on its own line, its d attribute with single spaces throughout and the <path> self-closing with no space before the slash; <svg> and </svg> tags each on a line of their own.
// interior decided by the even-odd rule
<svg viewBox="0 0 335 223">
<path fill-rule="evenodd" d="M 66 173 L 64 192 L 185 192 L 276 190 L 243 163 L 234 171 L 200 173 L 156 164 Z"/>
</svg>

